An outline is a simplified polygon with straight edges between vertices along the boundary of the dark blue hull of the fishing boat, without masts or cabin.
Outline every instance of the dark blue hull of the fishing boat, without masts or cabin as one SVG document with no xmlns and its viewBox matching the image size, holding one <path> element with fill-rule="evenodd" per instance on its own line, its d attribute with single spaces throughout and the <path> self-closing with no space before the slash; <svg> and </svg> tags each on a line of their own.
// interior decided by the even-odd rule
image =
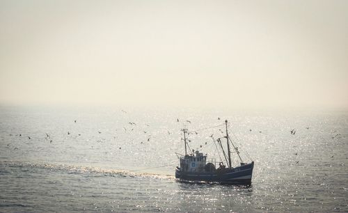
<svg viewBox="0 0 348 213">
<path fill-rule="evenodd" d="M 175 170 L 175 178 L 187 181 L 220 182 L 226 184 L 251 184 L 254 162 L 236 168 L 212 172 L 184 172 Z"/>
</svg>

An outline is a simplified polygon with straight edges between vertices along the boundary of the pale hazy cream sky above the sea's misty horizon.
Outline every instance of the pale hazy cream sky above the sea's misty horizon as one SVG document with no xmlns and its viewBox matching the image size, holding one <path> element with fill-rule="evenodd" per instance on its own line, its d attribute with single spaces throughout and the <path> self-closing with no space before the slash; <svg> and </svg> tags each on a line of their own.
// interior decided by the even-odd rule
<svg viewBox="0 0 348 213">
<path fill-rule="evenodd" d="M 2 1 L 0 104 L 348 109 L 348 1 Z"/>
</svg>

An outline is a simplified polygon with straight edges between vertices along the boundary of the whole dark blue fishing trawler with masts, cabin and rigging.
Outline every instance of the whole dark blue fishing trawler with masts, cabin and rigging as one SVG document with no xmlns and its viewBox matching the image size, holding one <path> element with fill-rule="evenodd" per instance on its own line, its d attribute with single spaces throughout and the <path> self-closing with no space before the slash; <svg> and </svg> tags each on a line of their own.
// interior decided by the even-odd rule
<svg viewBox="0 0 348 213">
<path fill-rule="evenodd" d="M 239 155 L 239 150 L 232 143 L 230 136 L 228 136 L 228 121 L 225 121 L 226 125 L 226 136 L 223 136 L 214 143 L 217 143 L 223 152 L 225 158 L 226 166 L 223 161 L 219 162 L 219 168 L 216 168 L 216 161 L 207 161 L 207 154 L 203 155 L 202 152 L 192 150 L 190 154 L 187 152 L 187 147 L 189 147 L 187 141 L 188 130 L 186 128 L 182 129 L 184 133 L 184 145 L 185 145 L 185 155 L 180 159 L 180 166 L 175 169 L 175 178 L 180 181 L 188 182 L 219 182 L 221 184 L 251 184 L 251 178 L 253 176 L 254 161 L 251 163 L 246 163 L 242 161 Z M 221 139 L 226 139 L 227 141 L 227 155 L 223 148 Z M 230 144 L 235 150 L 235 153 L 240 159 L 240 165 L 232 167 L 231 164 L 231 151 Z M 216 145 L 216 148 L 218 147 Z M 190 150 L 191 151 L 191 150 Z M 179 154 L 180 155 L 180 154 Z"/>
</svg>

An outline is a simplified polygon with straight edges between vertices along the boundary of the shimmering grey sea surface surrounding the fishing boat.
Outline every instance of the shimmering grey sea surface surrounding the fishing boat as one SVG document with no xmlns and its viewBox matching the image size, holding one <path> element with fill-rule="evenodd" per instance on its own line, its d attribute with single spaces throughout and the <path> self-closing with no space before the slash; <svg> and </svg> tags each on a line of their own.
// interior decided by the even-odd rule
<svg viewBox="0 0 348 213">
<path fill-rule="evenodd" d="M 224 129 L 209 127 L 225 119 L 252 185 L 177 182 L 180 129 L 203 129 L 189 145 L 219 161 L 209 136 Z M 1 107 L 0 120 L 1 211 L 348 211 L 345 112 Z"/>
</svg>

